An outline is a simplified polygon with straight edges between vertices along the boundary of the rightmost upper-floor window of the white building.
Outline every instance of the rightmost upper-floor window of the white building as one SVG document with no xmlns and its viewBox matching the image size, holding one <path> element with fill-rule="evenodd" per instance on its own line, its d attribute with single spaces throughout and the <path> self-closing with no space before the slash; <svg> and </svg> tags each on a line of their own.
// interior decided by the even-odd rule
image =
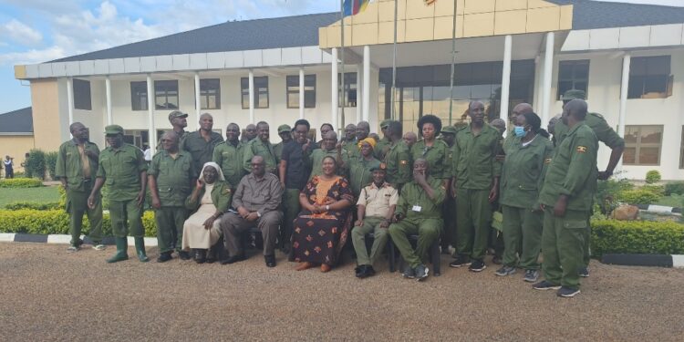
<svg viewBox="0 0 684 342">
<path fill-rule="evenodd" d="M 627 98 L 668 98 L 674 78 L 669 56 L 634 57 L 629 67 Z"/>
</svg>

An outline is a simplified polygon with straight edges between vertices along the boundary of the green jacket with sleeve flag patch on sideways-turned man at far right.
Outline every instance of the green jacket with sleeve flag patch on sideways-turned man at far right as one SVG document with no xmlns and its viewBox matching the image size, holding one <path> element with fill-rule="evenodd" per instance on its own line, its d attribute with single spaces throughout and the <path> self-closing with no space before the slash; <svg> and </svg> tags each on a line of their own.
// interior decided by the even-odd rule
<svg viewBox="0 0 684 342">
<path fill-rule="evenodd" d="M 598 140 L 589 126 L 579 123 L 569 130 L 548 166 L 539 202 L 553 207 L 565 194 L 568 210 L 589 211 L 596 192 L 597 150 Z"/>
</svg>

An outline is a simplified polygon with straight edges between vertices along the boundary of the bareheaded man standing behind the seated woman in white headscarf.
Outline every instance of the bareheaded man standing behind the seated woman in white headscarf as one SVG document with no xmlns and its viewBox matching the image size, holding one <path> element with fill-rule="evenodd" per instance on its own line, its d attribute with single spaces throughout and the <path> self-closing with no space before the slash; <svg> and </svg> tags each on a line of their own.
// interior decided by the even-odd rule
<svg viewBox="0 0 684 342">
<path fill-rule="evenodd" d="M 187 150 L 192 156 L 192 169 L 195 174 L 202 172 L 207 161 L 212 161 L 213 148 L 223 142 L 221 134 L 212 131 L 212 115 L 204 113 L 200 116 L 200 130 L 188 133 L 181 140 L 181 150 Z"/>
</svg>

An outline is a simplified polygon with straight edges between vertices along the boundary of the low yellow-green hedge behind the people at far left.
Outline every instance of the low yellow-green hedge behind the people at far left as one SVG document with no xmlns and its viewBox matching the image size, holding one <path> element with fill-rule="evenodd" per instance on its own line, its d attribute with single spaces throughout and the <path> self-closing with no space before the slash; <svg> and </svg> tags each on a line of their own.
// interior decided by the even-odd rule
<svg viewBox="0 0 684 342">
<path fill-rule="evenodd" d="M 154 223 L 154 212 L 142 215 L 145 236 L 156 237 L 157 225 Z M 88 218 L 83 218 L 83 233 L 88 233 Z M 2 233 L 35 233 L 35 234 L 67 234 L 69 232 L 69 216 L 67 212 L 58 210 L 0 210 L 0 232 Z M 111 235 L 109 212 L 104 213 L 102 233 Z"/>
</svg>

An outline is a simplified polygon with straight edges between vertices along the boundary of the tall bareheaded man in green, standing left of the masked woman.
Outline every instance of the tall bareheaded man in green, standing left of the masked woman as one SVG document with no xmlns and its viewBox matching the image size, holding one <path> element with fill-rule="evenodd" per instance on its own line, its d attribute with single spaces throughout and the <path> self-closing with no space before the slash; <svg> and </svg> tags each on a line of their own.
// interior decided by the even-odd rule
<svg viewBox="0 0 684 342">
<path fill-rule="evenodd" d="M 502 140 L 498 130 L 484 122 L 484 105 L 472 101 L 471 124 L 459 130 L 453 144 L 452 189 L 456 198 L 456 260 L 451 267 L 470 264 L 472 272 L 487 266 L 484 256 L 491 229 L 492 202 L 499 193 Z M 471 262 L 472 259 L 472 262 Z"/>
</svg>

